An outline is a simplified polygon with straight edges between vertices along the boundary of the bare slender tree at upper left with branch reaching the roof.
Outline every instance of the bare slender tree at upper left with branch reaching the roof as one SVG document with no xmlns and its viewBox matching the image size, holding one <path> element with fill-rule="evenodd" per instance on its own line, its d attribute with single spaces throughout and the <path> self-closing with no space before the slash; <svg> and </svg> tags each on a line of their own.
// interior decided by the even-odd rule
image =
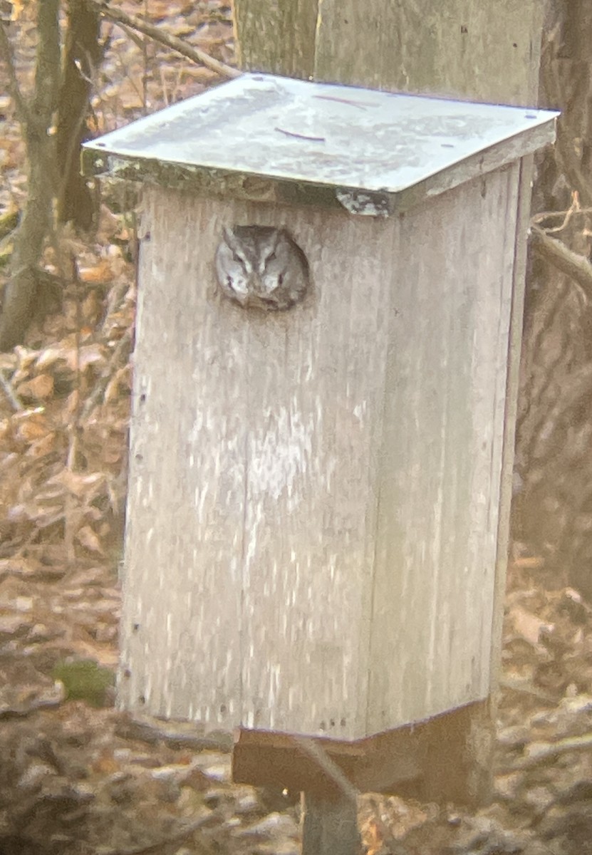
<svg viewBox="0 0 592 855">
<path fill-rule="evenodd" d="M 92 226 L 94 200 L 80 175 L 80 144 L 87 127 L 92 83 L 104 55 L 100 40 L 103 18 L 124 30 L 136 30 L 212 68 L 223 77 L 239 74 L 180 38 L 127 15 L 105 0 L 68 0 L 67 28 L 60 42 L 60 0 L 39 0 L 38 48 L 33 92 L 22 91 L 10 42 L 10 25 L 0 21 L 0 61 L 9 80 L 27 148 L 27 204 L 15 230 L 11 276 L 5 286 L 0 316 L 0 351 L 19 344 L 48 281 L 42 268 L 46 240 L 54 227 L 54 203 L 59 222 L 73 221 L 84 230 Z M 57 241 L 55 241 L 57 244 Z"/>
</svg>

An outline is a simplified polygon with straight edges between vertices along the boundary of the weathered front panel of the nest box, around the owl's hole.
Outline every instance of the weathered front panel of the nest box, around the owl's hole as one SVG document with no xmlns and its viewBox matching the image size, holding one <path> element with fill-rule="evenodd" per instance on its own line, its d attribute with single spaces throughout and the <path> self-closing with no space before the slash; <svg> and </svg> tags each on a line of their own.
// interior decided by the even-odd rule
<svg viewBox="0 0 592 855">
<path fill-rule="evenodd" d="M 393 224 L 163 192 L 148 221 L 122 701 L 364 736 Z M 222 296 L 213 259 L 236 223 L 289 228 L 302 304 Z"/>
</svg>

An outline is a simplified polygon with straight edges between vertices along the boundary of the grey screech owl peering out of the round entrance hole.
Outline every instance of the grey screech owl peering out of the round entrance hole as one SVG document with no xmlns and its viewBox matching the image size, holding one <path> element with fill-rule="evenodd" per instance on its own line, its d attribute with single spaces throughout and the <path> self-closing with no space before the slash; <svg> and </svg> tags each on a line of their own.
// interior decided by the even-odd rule
<svg viewBox="0 0 592 855">
<path fill-rule="evenodd" d="M 265 311 L 289 309 L 309 286 L 304 252 L 283 228 L 225 228 L 216 250 L 222 292 L 241 306 Z"/>
</svg>

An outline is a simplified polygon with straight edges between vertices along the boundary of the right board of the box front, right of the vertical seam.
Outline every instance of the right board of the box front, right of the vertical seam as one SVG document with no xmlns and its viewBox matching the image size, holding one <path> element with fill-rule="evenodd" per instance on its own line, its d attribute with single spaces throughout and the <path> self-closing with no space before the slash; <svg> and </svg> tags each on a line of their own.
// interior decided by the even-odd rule
<svg viewBox="0 0 592 855">
<path fill-rule="evenodd" d="M 358 632 L 370 620 L 389 231 L 277 213 L 306 249 L 315 294 L 301 311 L 248 319 L 243 721 L 352 738 L 365 733 Z M 364 247 L 355 262 L 352 246 Z"/>
</svg>

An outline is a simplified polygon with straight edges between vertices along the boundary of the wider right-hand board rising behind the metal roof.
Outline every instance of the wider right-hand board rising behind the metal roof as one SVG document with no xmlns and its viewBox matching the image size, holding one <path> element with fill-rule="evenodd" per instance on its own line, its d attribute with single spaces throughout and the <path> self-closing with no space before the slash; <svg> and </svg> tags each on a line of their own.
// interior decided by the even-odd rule
<svg viewBox="0 0 592 855">
<path fill-rule="evenodd" d="M 532 106 L 544 5 L 323 0 L 315 80 Z"/>
</svg>

